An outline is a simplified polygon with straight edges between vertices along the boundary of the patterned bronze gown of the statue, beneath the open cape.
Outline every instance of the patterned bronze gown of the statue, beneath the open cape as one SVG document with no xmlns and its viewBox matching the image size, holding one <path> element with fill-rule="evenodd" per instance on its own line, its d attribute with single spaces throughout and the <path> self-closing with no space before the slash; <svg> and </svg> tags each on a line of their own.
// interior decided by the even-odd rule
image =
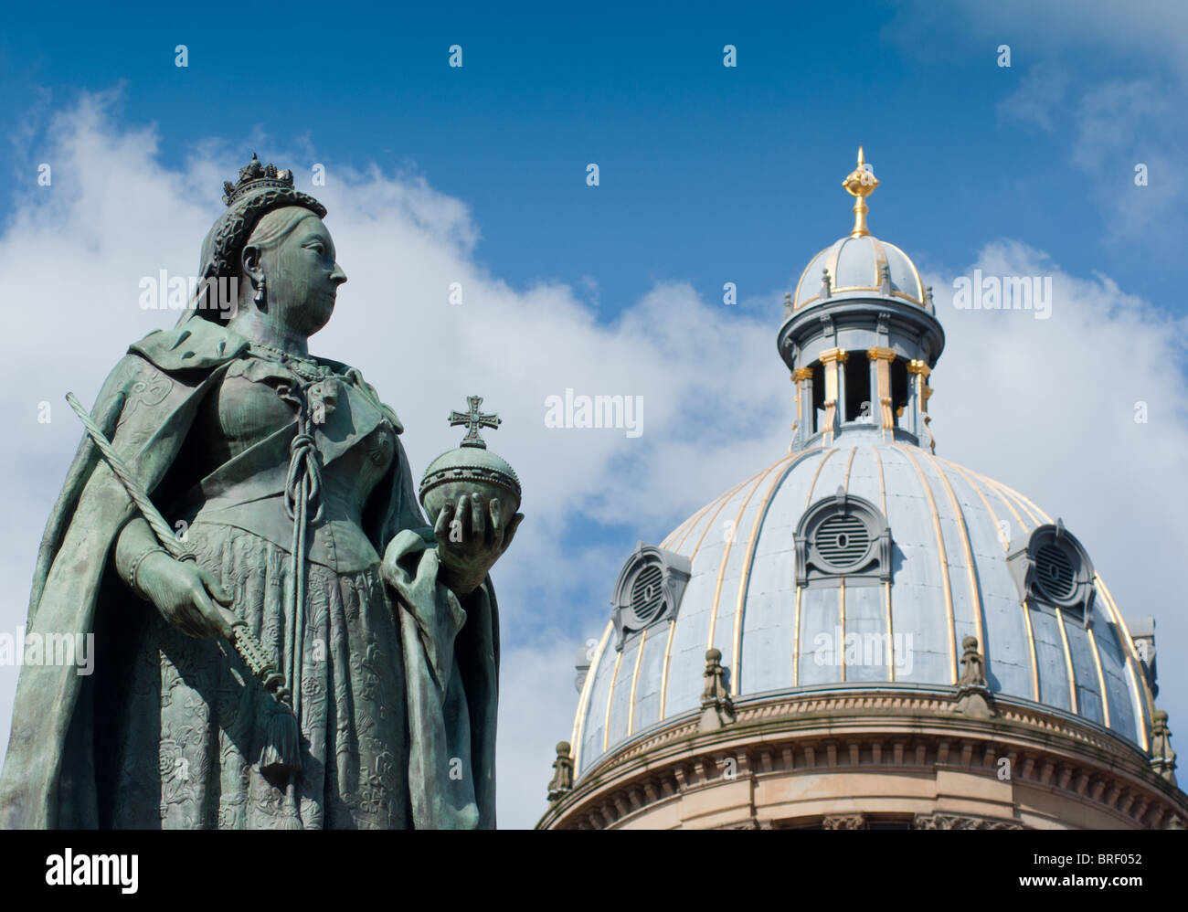
<svg viewBox="0 0 1188 912">
<path fill-rule="evenodd" d="M 292 520 L 283 496 L 259 493 L 261 479 L 289 468 L 287 448 L 271 439 L 292 424 L 278 394 L 291 379 L 271 360 L 232 365 L 197 412 L 165 486 L 169 502 L 158 502 L 171 522 L 188 522 L 198 564 L 286 678 Z M 327 413 L 314 436 L 323 517 L 309 527 L 304 564 L 299 817 L 308 829 L 403 829 L 412 824 L 402 634 L 380 556 L 362 532 L 396 431 L 341 372 L 322 386 Z M 274 703 L 240 658 L 220 640 L 187 636 L 148 604 L 124 623 L 127 665 L 96 695 L 101 825 L 283 825 L 292 799 L 259 770 Z"/>
</svg>

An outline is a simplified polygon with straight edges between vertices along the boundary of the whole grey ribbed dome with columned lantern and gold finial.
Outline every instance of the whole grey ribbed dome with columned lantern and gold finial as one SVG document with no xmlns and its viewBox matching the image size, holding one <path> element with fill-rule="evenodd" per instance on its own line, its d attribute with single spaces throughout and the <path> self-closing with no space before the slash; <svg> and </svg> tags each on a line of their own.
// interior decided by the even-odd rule
<svg viewBox="0 0 1188 912">
<path fill-rule="evenodd" d="M 943 329 L 911 260 L 866 228 L 861 150 L 842 186 L 854 227 L 809 262 L 777 334 L 792 445 L 627 559 L 582 682 L 579 775 L 695 718 L 707 673 L 707 705 L 722 684 L 735 704 L 985 686 L 1007 717 L 1030 704 L 1146 750 L 1151 670 L 1080 542 L 933 452 Z"/>
</svg>

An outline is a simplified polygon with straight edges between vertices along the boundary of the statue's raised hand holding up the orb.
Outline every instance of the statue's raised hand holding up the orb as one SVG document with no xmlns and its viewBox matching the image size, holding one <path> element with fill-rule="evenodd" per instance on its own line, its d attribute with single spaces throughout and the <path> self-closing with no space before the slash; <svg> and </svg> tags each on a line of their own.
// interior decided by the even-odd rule
<svg viewBox="0 0 1188 912">
<path fill-rule="evenodd" d="M 447 504 L 434 524 L 438 578 L 460 598 L 473 593 L 511 545 L 523 519 L 524 514 L 517 513 L 505 525 L 498 498 L 484 504 L 479 496 L 463 494 L 455 504 Z"/>
</svg>

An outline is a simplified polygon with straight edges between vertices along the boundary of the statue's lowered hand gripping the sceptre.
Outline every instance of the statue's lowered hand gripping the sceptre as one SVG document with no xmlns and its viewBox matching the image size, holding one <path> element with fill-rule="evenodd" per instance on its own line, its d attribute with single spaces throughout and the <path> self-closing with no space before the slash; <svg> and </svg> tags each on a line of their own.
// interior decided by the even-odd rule
<svg viewBox="0 0 1188 912">
<path fill-rule="evenodd" d="M 185 635 L 230 639 L 236 619 L 225 606 L 232 598 L 204 566 L 152 553 L 137 570 L 137 588 Z"/>
</svg>

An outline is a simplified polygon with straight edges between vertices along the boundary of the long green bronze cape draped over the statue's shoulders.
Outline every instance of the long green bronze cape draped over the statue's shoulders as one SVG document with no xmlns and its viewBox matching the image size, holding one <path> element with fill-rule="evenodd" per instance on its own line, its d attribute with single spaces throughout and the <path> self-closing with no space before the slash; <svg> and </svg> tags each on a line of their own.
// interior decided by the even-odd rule
<svg viewBox="0 0 1188 912">
<path fill-rule="evenodd" d="M 247 341 L 226 327 L 183 319 L 131 346 L 108 375 L 91 418 L 145 490 L 153 492 L 165 479 L 204 394 L 246 349 Z M 378 404 L 374 388 L 352 373 Z M 399 433 L 396 413 L 380 407 Z M 154 610 L 113 568 L 115 540 L 134 515 L 122 484 L 84 435 L 38 550 L 26 632 L 101 631 L 94 673 L 78 674 L 72 665 L 21 667 L 0 773 L 0 826 L 101 825 L 95 752 L 96 745 L 103 747 L 95 730 L 95 685 L 100 676 L 119 673 L 103 667 L 101 636 L 119 635 L 122 613 Z M 385 556 L 404 648 L 412 825 L 493 829 L 494 589 L 488 577 L 460 602 L 438 582 L 432 530 L 417 504 L 399 437 L 392 467 L 366 505 L 364 526 L 377 553 Z"/>
</svg>

